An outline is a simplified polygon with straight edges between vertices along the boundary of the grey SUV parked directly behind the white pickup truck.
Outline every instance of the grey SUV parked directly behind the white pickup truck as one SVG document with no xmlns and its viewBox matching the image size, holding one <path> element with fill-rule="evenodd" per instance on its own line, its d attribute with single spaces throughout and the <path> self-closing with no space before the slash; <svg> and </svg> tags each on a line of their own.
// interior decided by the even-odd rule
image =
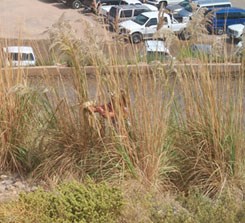
<svg viewBox="0 0 245 223">
<path fill-rule="evenodd" d="M 117 26 L 118 23 L 130 20 L 143 12 L 150 12 L 145 5 L 118 5 L 112 6 L 108 14 L 108 23 L 110 27 Z"/>
</svg>

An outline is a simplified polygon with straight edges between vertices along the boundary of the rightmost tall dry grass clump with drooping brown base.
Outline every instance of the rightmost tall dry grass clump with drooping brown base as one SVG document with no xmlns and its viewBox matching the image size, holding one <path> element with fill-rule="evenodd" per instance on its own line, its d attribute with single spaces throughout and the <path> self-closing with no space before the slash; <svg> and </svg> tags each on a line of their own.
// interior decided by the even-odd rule
<svg viewBox="0 0 245 223">
<path fill-rule="evenodd" d="M 180 78 L 184 113 L 175 141 L 184 190 L 214 195 L 243 177 L 242 79 L 213 78 L 203 71 Z"/>
</svg>

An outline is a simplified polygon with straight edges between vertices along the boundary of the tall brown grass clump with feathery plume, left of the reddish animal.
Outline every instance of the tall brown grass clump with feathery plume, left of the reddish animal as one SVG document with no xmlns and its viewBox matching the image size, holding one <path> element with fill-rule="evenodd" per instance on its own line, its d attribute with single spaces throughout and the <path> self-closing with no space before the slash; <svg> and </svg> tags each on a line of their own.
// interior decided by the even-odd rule
<svg viewBox="0 0 245 223">
<path fill-rule="evenodd" d="M 71 61 L 75 97 L 73 100 L 66 98 L 69 93 L 65 88 L 65 98 L 56 93 L 50 95 L 52 106 L 42 132 L 42 143 L 38 147 L 41 163 L 35 169 L 34 175 L 58 180 L 69 175 L 80 178 L 90 168 L 87 167 L 88 157 L 100 140 L 99 130 L 91 126 L 90 117 L 82 108 L 82 104 L 89 100 L 87 76 L 83 68 L 88 60 L 96 65 L 103 59 L 98 59 L 99 50 L 96 50 L 96 46 L 90 51 L 90 47 L 92 49 L 94 46 L 91 42 L 85 44 L 76 38 L 63 17 L 54 24 L 49 33 L 50 48 Z"/>
</svg>

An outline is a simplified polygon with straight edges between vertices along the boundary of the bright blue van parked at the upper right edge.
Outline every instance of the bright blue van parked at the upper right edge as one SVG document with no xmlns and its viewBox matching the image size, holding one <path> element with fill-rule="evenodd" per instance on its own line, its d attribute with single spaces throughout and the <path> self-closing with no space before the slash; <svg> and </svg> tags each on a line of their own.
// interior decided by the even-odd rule
<svg viewBox="0 0 245 223">
<path fill-rule="evenodd" d="M 222 35 L 229 25 L 245 24 L 245 9 L 242 8 L 222 8 L 211 11 L 210 14 L 211 19 L 207 24 L 210 33 Z"/>
</svg>

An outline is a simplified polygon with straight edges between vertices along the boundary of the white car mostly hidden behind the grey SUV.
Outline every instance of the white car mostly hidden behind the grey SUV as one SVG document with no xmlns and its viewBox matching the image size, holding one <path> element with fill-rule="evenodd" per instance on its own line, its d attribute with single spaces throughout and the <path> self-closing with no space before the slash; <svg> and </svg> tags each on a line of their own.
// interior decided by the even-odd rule
<svg viewBox="0 0 245 223">
<path fill-rule="evenodd" d="M 121 1 L 118 1 L 118 3 L 119 4 L 112 4 L 112 5 L 102 4 L 102 6 L 99 9 L 99 14 L 104 16 L 104 17 L 108 17 L 108 14 L 109 14 L 109 11 L 110 11 L 111 7 L 115 6 L 115 5 L 145 5 L 151 11 L 157 11 L 158 10 L 156 6 L 142 3 L 139 0 L 121 0 Z"/>
</svg>

